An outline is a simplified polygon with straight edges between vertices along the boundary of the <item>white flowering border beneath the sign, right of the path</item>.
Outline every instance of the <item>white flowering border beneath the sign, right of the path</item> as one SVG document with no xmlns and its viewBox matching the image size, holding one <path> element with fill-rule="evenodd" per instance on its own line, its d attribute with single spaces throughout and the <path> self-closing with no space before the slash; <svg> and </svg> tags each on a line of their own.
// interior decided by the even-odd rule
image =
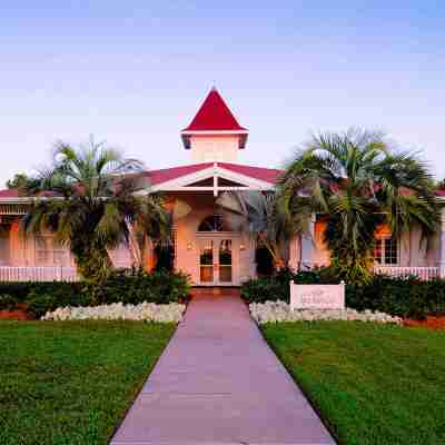
<svg viewBox="0 0 445 445">
<path fill-rule="evenodd" d="M 392 317 L 388 314 L 355 309 L 304 309 L 290 310 L 285 301 L 253 303 L 249 305 L 251 317 L 259 324 L 279 322 L 318 322 L 318 320 L 352 320 L 393 323 L 400 325 L 402 318 Z"/>
</svg>

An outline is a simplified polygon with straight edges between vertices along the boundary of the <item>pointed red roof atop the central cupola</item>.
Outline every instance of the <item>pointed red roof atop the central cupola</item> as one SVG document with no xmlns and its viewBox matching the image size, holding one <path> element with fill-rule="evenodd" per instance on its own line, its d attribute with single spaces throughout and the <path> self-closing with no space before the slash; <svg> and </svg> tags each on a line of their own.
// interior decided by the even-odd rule
<svg viewBox="0 0 445 445">
<path fill-rule="evenodd" d="M 206 97 L 191 123 L 182 131 L 247 131 L 231 113 L 216 88 Z"/>
</svg>

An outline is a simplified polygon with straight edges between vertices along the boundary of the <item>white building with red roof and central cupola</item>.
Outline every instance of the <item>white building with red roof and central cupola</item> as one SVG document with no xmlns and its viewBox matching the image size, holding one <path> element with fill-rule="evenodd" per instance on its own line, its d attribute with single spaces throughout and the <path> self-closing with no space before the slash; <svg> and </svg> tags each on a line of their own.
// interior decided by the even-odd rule
<svg viewBox="0 0 445 445">
<path fill-rule="evenodd" d="M 216 89 L 212 89 L 190 125 L 180 131 L 190 164 L 146 171 L 142 192 L 162 191 L 181 211 L 175 222 L 174 264 L 189 274 L 198 286 L 238 286 L 257 275 L 256 246 L 247 235 L 225 227 L 215 200 L 227 190 L 271 190 L 280 170 L 238 162 L 246 149 L 248 130 L 241 127 Z M 17 190 L 0 190 L 0 281 L 24 279 L 75 279 L 70 253 L 57 246 L 51 234 L 33 237 L 20 230 L 20 218 L 30 198 Z M 323 216 L 314 216 L 310 234 L 295 238 L 288 246 L 294 268 L 326 265 L 329 253 L 323 241 Z M 445 265 L 445 226 L 426 251 L 419 248 L 419 233 L 394 239 L 386 227 L 376 233 L 375 261 L 378 271 L 393 275 L 416 274 L 428 278 Z M 131 266 L 126 246 L 113 251 L 117 267 Z M 147 268 L 154 267 L 149 256 Z M 442 267 L 443 268 L 443 267 Z"/>
</svg>

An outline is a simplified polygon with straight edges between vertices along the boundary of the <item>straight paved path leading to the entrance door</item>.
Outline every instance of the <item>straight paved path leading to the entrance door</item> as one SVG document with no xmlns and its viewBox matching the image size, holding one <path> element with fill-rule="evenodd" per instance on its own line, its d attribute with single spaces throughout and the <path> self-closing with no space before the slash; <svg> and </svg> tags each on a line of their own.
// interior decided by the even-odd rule
<svg viewBox="0 0 445 445">
<path fill-rule="evenodd" d="M 111 444 L 335 442 L 240 298 L 198 295 Z"/>
</svg>

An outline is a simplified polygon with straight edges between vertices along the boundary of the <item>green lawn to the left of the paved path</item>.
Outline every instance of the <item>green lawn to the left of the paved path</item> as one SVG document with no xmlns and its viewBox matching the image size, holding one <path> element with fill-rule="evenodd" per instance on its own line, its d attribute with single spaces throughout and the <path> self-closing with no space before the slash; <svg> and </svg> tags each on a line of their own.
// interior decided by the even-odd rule
<svg viewBox="0 0 445 445">
<path fill-rule="evenodd" d="M 106 444 L 174 332 L 140 322 L 0 322 L 0 444 Z"/>
</svg>

